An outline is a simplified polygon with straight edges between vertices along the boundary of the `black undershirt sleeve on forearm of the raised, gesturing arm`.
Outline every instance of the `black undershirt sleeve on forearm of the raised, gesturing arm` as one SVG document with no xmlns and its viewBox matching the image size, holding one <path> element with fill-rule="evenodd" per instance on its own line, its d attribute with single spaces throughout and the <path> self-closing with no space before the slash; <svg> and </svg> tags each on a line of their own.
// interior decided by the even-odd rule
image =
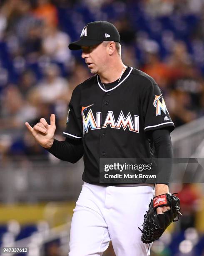
<svg viewBox="0 0 204 256">
<path fill-rule="evenodd" d="M 72 140 L 70 138 L 66 138 L 65 141 L 57 141 L 54 139 L 52 147 L 47 150 L 60 160 L 67 161 L 72 164 L 79 161 L 84 154 L 84 148 L 81 139 Z"/>
</svg>

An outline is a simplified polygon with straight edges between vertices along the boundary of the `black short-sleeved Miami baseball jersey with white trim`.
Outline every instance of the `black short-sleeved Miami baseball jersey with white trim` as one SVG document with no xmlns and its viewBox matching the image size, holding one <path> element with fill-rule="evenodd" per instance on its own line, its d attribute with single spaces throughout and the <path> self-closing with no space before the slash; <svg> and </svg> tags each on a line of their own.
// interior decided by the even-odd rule
<svg viewBox="0 0 204 256">
<path fill-rule="evenodd" d="M 82 140 L 82 179 L 97 184 L 100 158 L 151 158 L 146 132 L 164 127 L 174 130 L 159 86 L 127 67 L 119 82 L 102 84 L 95 75 L 75 88 L 63 136 Z"/>
</svg>

